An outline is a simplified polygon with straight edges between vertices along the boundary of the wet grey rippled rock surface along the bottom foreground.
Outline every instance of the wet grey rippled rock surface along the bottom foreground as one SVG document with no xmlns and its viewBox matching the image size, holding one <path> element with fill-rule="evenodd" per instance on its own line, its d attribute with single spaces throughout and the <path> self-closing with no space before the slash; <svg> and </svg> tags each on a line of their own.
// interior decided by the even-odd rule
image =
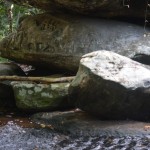
<svg viewBox="0 0 150 150">
<path fill-rule="evenodd" d="M 12 122 L 0 127 L 0 149 L 139 149 L 150 147 L 147 136 L 75 137 L 48 129 L 21 128 Z"/>
</svg>

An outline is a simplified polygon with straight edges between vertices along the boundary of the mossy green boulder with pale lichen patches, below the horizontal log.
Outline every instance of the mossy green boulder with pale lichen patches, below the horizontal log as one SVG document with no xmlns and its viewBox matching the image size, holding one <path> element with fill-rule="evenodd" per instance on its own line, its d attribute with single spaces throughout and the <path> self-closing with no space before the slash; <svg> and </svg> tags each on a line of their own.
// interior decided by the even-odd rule
<svg viewBox="0 0 150 150">
<path fill-rule="evenodd" d="M 16 105 L 23 111 L 45 111 L 69 108 L 69 83 L 36 84 L 12 82 Z"/>
</svg>

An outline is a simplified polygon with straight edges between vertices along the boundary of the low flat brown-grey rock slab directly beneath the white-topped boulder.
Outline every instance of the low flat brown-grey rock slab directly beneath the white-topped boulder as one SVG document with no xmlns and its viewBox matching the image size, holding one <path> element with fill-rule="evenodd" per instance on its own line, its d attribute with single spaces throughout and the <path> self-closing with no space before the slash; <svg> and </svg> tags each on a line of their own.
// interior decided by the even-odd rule
<svg viewBox="0 0 150 150">
<path fill-rule="evenodd" d="M 73 136 L 149 136 L 150 123 L 137 121 L 102 121 L 83 111 L 38 113 L 36 124 Z"/>
</svg>

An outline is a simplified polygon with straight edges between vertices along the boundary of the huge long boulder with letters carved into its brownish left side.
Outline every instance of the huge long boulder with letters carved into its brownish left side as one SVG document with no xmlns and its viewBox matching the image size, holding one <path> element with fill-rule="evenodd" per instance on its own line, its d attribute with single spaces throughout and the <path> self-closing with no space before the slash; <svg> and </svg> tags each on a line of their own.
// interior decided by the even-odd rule
<svg viewBox="0 0 150 150">
<path fill-rule="evenodd" d="M 54 70 L 76 72 L 82 55 L 111 50 L 150 64 L 150 37 L 143 26 L 66 14 L 26 17 L 0 42 L 1 56 Z"/>
</svg>

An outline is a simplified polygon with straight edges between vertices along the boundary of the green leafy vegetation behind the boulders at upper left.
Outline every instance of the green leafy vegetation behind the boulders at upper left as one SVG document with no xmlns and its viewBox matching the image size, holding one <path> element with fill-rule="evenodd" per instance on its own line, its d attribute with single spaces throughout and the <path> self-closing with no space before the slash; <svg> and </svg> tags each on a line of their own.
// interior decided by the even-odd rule
<svg viewBox="0 0 150 150">
<path fill-rule="evenodd" d="M 12 18 L 10 20 L 8 10 L 11 9 Z M 11 30 L 15 31 L 18 27 L 20 17 L 24 15 L 34 15 L 41 13 L 37 8 L 18 6 L 12 3 L 9 3 L 9 6 L 6 5 L 6 0 L 0 0 L 0 40 L 5 36 L 9 35 Z M 11 27 L 10 27 L 11 22 Z M 12 29 L 10 29 L 12 28 Z M 0 62 L 9 62 L 8 59 L 0 57 Z"/>
</svg>

